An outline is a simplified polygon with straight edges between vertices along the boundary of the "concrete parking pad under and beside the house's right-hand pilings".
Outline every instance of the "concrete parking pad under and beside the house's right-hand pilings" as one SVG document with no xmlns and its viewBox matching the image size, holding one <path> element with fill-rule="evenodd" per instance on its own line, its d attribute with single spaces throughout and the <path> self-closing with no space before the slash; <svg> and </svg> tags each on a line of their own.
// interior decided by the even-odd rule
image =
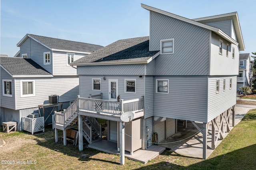
<svg viewBox="0 0 256 170">
<path fill-rule="evenodd" d="M 235 107 L 235 125 L 237 125 L 244 115 L 252 108 L 245 107 Z M 232 120 L 232 114 L 230 119 Z M 202 129 L 202 123 L 196 123 L 199 128 Z M 232 129 L 233 127 L 231 127 Z M 185 128 L 182 122 L 178 121 L 178 133 L 170 136 L 166 140 L 160 142 L 165 144 L 159 144 L 159 146 L 163 146 L 166 148 L 170 148 L 171 151 L 176 152 L 181 155 L 193 157 L 193 158 L 203 158 L 203 135 L 201 132 L 191 123 L 188 122 L 187 128 Z M 208 135 L 207 135 L 207 150 L 206 150 L 206 158 L 212 154 L 213 150 L 211 149 L 211 136 L 212 127 L 210 125 Z M 217 133 L 217 132 L 216 132 Z M 228 133 L 226 132 L 224 137 L 226 137 Z M 187 138 L 187 139 L 186 139 Z M 177 142 L 178 141 L 178 142 Z M 216 147 L 222 142 L 222 140 L 218 140 L 216 143 Z"/>
</svg>

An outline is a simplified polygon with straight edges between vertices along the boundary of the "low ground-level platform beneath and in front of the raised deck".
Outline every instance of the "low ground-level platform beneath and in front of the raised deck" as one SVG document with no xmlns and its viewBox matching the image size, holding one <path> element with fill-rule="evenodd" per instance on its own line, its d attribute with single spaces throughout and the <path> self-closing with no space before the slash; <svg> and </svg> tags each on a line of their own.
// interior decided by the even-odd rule
<svg viewBox="0 0 256 170">
<path fill-rule="evenodd" d="M 120 152 L 117 150 L 117 143 L 110 142 L 107 140 L 100 140 L 100 141 L 94 142 L 92 144 L 89 144 L 88 147 L 97 149 L 109 154 L 120 154 Z M 156 156 L 164 152 L 164 150 L 165 148 L 162 146 L 152 145 L 148 147 L 147 150 L 139 149 L 133 152 L 133 155 L 130 155 L 130 152 L 125 151 L 125 157 L 130 160 L 134 160 L 134 161 L 138 161 L 138 162 L 142 162 L 143 164 L 146 164 L 148 163 L 149 160 L 156 158 Z"/>
</svg>

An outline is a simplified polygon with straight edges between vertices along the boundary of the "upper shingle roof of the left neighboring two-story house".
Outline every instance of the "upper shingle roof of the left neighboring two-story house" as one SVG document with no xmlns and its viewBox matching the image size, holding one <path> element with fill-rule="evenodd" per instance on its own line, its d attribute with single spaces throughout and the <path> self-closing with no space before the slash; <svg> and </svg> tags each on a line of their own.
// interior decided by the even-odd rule
<svg viewBox="0 0 256 170">
<path fill-rule="evenodd" d="M 42 42 L 43 44 L 47 45 L 52 49 L 63 49 L 63 50 L 70 50 L 70 51 L 83 51 L 83 52 L 92 53 L 103 47 L 101 45 L 95 45 L 90 43 L 74 42 L 74 41 L 62 40 L 58 38 L 36 36 L 33 34 L 28 34 L 28 35 Z"/>
</svg>

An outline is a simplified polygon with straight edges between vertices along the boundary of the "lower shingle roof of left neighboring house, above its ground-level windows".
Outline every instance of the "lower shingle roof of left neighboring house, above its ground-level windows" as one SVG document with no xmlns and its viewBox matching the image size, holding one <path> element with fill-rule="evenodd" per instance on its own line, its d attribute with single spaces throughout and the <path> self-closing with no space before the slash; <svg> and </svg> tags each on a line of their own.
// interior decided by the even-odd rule
<svg viewBox="0 0 256 170">
<path fill-rule="evenodd" d="M 0 62 L 12 75 L 51 75 L 32 59 L 0 57 Z"/>
</svg>

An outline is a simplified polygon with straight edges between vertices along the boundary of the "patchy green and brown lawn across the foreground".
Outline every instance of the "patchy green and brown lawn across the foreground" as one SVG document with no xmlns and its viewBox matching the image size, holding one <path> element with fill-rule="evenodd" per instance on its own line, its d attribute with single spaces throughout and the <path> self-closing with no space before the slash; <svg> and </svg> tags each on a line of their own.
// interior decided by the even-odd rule
<svg viewBox="0 0 256 170">
<path fill-rule="evenodd" d="M 59 134 L 61 136 L 61 132 Z M 190 158 L 164 151 L 148 164 L 125 159 L 119 165 L 120 157 L 98 150 L 86 148 L 78 151 L 78 146 L 62 142 L 55 143 L 54 130 L 46 129 L 34 135 L 26 132 L 0 132 L 0 138 L 7 143 L 18 141 L 19 148 L 2 152 L 1 160 L 14 160 L 15 164 L 0 164 L 0 169 L 255 169 L 256 168 L 256 109 L 250 110 L 244 119 L 234 127 L 218 145 L 207 160 Z M 7 146 L 7 144 L 6 144 Z M 4 146 L 4 147 L 6 147 Z M 35 160 L 36 164 L 18 164 L 16 161 Z"/>
</svg>

